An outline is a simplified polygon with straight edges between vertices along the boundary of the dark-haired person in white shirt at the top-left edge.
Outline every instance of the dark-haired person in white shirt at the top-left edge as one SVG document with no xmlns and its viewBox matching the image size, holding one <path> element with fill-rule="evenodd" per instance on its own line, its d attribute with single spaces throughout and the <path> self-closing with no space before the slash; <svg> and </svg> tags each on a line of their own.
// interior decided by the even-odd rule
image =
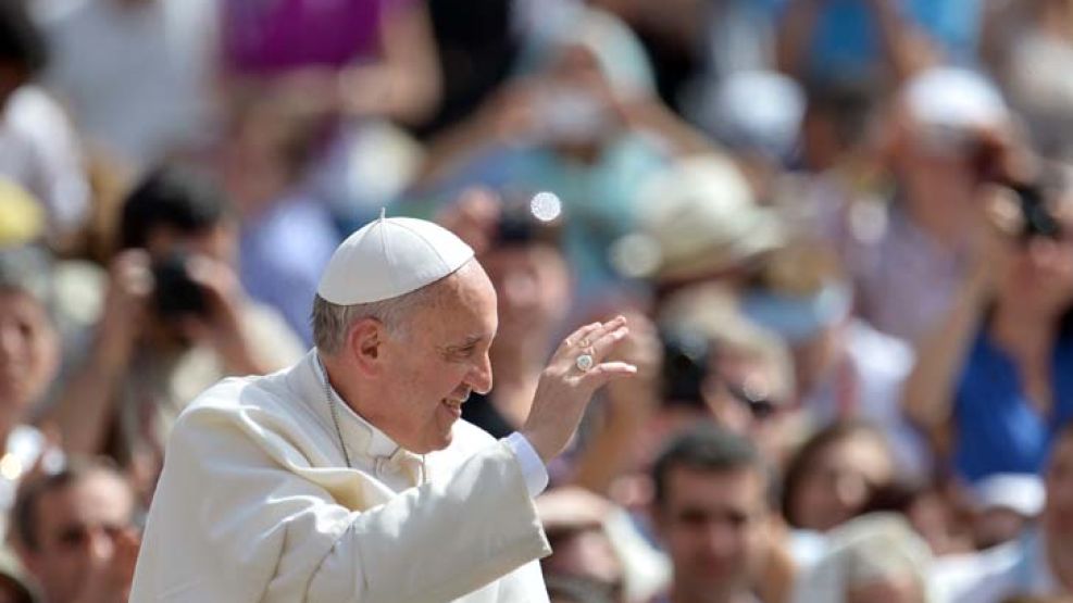
<svg viewBox="0 0 1073 603">
<path fill-rule="evenodd" d="M 0 0 L 0 176 L 45 205 L 55 239 L 82 225 L 89 187 L 74 128 L 60 105 L 34 85 L 48 52 L 27 4 Z"/>
</svg>

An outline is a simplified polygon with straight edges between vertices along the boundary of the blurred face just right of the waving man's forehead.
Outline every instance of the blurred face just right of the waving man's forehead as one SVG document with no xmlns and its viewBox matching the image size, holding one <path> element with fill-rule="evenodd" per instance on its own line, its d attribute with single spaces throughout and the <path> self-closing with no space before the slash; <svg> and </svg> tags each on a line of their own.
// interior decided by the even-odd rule
<svg viewBox="0 0 1073 603">
<path fill-rule="evenodd" d="M 497 342 L 542 335 L 550 342 L 570 303 L 570 274 L 559 250 L 535 243 L 492 249 L 481 259 L 499 299 Z"/>
</svg>

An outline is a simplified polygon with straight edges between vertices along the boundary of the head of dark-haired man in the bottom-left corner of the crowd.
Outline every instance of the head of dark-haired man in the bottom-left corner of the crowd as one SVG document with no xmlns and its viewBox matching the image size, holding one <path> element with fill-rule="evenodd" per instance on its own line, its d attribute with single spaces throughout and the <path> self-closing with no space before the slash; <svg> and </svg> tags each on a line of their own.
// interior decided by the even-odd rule
<svg viewBox="0 0 1073 603">
<path fill-rule="evenodd" d="M 134 512 L 130 485 L 98 461 L 29 480 L 15 503 L 16 539 L 45 600 L 126 601 L 139 543 Z"/>
</svg>

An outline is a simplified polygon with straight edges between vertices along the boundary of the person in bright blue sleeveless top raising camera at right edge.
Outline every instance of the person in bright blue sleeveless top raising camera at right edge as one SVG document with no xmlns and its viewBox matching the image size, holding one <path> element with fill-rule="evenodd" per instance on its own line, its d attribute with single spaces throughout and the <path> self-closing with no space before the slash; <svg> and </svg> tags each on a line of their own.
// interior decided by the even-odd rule
<svg viewBox="0 0 1073 603">
<path fill-rule="evenodd" d="M 1038 474 L 1073 422 L 1073 186 L 996 187 L 946 321 L 921 342 L 902 404 L 958 477 Z"/>
</svg>

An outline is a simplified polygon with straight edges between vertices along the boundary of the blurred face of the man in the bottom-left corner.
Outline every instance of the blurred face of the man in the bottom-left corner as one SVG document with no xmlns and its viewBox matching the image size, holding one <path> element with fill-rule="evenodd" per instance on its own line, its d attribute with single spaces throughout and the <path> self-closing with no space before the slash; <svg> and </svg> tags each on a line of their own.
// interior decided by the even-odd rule
<svg viewBox="0 0 1073 603">
<path fill-rule="evenodd" d="M 73 601 L 79 594 L 92 566 L 112 557 L 133 514 L 130 489 L 104 472 L 41 494 L 36 513 L 39 547 L 27 555 L 26 565 L 49 601 Z"/>
</svg>

